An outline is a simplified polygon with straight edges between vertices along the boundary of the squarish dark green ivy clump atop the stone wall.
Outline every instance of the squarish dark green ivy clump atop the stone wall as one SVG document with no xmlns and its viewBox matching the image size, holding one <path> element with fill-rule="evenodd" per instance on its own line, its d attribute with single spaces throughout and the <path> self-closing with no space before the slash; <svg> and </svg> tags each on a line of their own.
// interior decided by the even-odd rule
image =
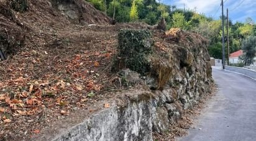
<svg viewBox="0 0 256 141">
<path fill-rule="evenodd" d="M 147 56 L 153 49 L 149 30 L 120 30 L 118 43 L 115 70 L 129 68 L 142 74 L 149 72 L 150 63 Z"/>
</svg>

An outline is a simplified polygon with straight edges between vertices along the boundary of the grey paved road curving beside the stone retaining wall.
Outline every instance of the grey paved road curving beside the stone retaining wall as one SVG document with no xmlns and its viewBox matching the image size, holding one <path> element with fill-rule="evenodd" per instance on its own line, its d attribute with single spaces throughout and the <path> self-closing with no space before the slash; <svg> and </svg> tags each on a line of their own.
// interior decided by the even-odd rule
<svg viewBox="0 0 256 141">
<path fill-rule="evenodd" d="M 219 91 L 180 141 L 256 140 L 256 81 L 213 69 Z M 199 130 L 201 129 L 201 130 Z"/>
</svg>

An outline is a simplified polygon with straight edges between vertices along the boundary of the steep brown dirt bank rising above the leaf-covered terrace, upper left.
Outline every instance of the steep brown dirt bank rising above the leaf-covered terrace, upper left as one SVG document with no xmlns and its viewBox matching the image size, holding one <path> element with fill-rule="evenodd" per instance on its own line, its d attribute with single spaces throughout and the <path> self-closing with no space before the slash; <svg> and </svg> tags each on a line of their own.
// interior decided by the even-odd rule
<svg viewBox="0 0 256 141">
<path fill-rule="evenodd" d="M 25 9 L 17 6 L 19 4 L 16 0 L 0 1 L 0 42 L 8 55 L 24 45 L 41 43 L 52 30 L 109 24 L 111 20 L 83 0 L 27 1 Z"/>
</svg>

